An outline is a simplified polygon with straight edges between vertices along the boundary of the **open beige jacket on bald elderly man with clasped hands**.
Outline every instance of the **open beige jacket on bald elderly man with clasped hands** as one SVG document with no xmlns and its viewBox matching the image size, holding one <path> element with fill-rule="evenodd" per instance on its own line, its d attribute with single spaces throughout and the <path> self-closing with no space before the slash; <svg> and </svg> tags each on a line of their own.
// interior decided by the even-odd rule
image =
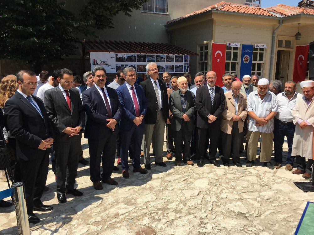
<svg viewBox="0 0 314 235">
<path fill-rule="evenodd" d="M 226 92 L 225 97 L 225 110 L 224 112 L 222 112 L 220 130 L 227 134 L 231 134 L 233 125 L 233 121 L 231 121 L 231 118 L 233 117 L 233 115 L 235 115 L 236 105 L 232 97 L 232 91 Z M 243 131 L 244 121 L 247 116 L 246 95 L 242 92 L 239 93 L 237 110 L 237 115 L 241 117 L 241 119 L 238 120 L 239 133 L 241 133 Z"/>
</svg>

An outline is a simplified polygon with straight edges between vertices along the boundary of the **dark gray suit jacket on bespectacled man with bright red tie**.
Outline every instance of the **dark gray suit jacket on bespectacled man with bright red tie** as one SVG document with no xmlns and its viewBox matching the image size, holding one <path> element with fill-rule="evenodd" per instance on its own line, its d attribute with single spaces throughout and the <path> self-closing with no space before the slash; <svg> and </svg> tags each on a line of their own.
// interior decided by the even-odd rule
<svg viewBox="0 0 314 235">
<path fill-rule="evenodd" d="M 85 123 L 85 112 L 78 89 L 69 90 L 71 110 L 59 86 L 45 91 L 44 104 L 48 117 L 53 123 L 53 129 L 58 134 L 67 127 L 82 127 Z"/>
</svg>

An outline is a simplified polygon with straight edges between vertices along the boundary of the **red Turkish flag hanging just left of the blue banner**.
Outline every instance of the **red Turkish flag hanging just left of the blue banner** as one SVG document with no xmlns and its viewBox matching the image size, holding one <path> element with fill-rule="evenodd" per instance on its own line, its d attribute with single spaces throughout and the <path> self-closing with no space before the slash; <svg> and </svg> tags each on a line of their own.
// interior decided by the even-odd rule
<svg viewBox="0 0 314 235">
<path fill-rule="evenodd" d="M 212 70 L 217 74 L 216 86 L 224 86 L 222 76 L 225 74 L 226 63 L 226 44 L 212 44 Z"/>
</svg>

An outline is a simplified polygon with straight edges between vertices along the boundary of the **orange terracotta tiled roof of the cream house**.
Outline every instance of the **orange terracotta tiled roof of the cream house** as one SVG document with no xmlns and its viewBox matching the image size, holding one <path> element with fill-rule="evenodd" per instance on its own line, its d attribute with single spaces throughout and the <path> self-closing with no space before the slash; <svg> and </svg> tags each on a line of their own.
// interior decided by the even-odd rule
<svg viewBox="0 0 314 235">
<path fill-rule="evenodd" d="M 209 12 L 210 10 L 221 10 L 221 11 L 229 11 L 229 12 L 254 14 L 254 15 L 274 16 L 274 17 L 278 16 L 278 14 L 282 16 L 295 15 L 295 14 L 300 14 L 300 13 L 314 15 L 314 9 L 291 7 L 284 4 L 278 4 L 277 6 L 269 7 L 269 8 L 259 8 L 259 7 L 245 6 L 245 5 L 236 4 L 236 3 L 220 2 L 212 6 L 209 6 L 207 8 L 203 8 L 198 11 L 189 13 L 180 18 L 176 18 L 171 21 L 168 21 L 167 24 L 171 24 L 171 23 L 180 21 L 182 19 L 196 16 L 201 13 Z"/>
</svg>

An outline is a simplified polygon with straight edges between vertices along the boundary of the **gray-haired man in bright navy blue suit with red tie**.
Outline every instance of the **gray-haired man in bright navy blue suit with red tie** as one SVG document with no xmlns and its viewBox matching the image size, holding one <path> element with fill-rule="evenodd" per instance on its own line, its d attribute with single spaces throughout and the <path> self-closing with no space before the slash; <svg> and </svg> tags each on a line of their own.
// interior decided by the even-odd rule
<svg viewBox="0 0 314 235">
<path fill-rule="evenodd" d="M 126 82 L 117 89 L 119 101 L 122 107 L 122 117 L 120 120 L 121 150 L 120 157 L 122 163 L 122 176 L 129 178 L 129 165 L 127 162 L 127 152 L 132 141 L 132 165 L 133 172 L 147 174 L 148 171 L 141 167 L 141 143 L 145 123 L 143 118 L 147 110 L 147 102 L 143 88 L 137 84 L 136 74 L 133 67 L 123 70 L 123 77 Z"/>
</svg>

